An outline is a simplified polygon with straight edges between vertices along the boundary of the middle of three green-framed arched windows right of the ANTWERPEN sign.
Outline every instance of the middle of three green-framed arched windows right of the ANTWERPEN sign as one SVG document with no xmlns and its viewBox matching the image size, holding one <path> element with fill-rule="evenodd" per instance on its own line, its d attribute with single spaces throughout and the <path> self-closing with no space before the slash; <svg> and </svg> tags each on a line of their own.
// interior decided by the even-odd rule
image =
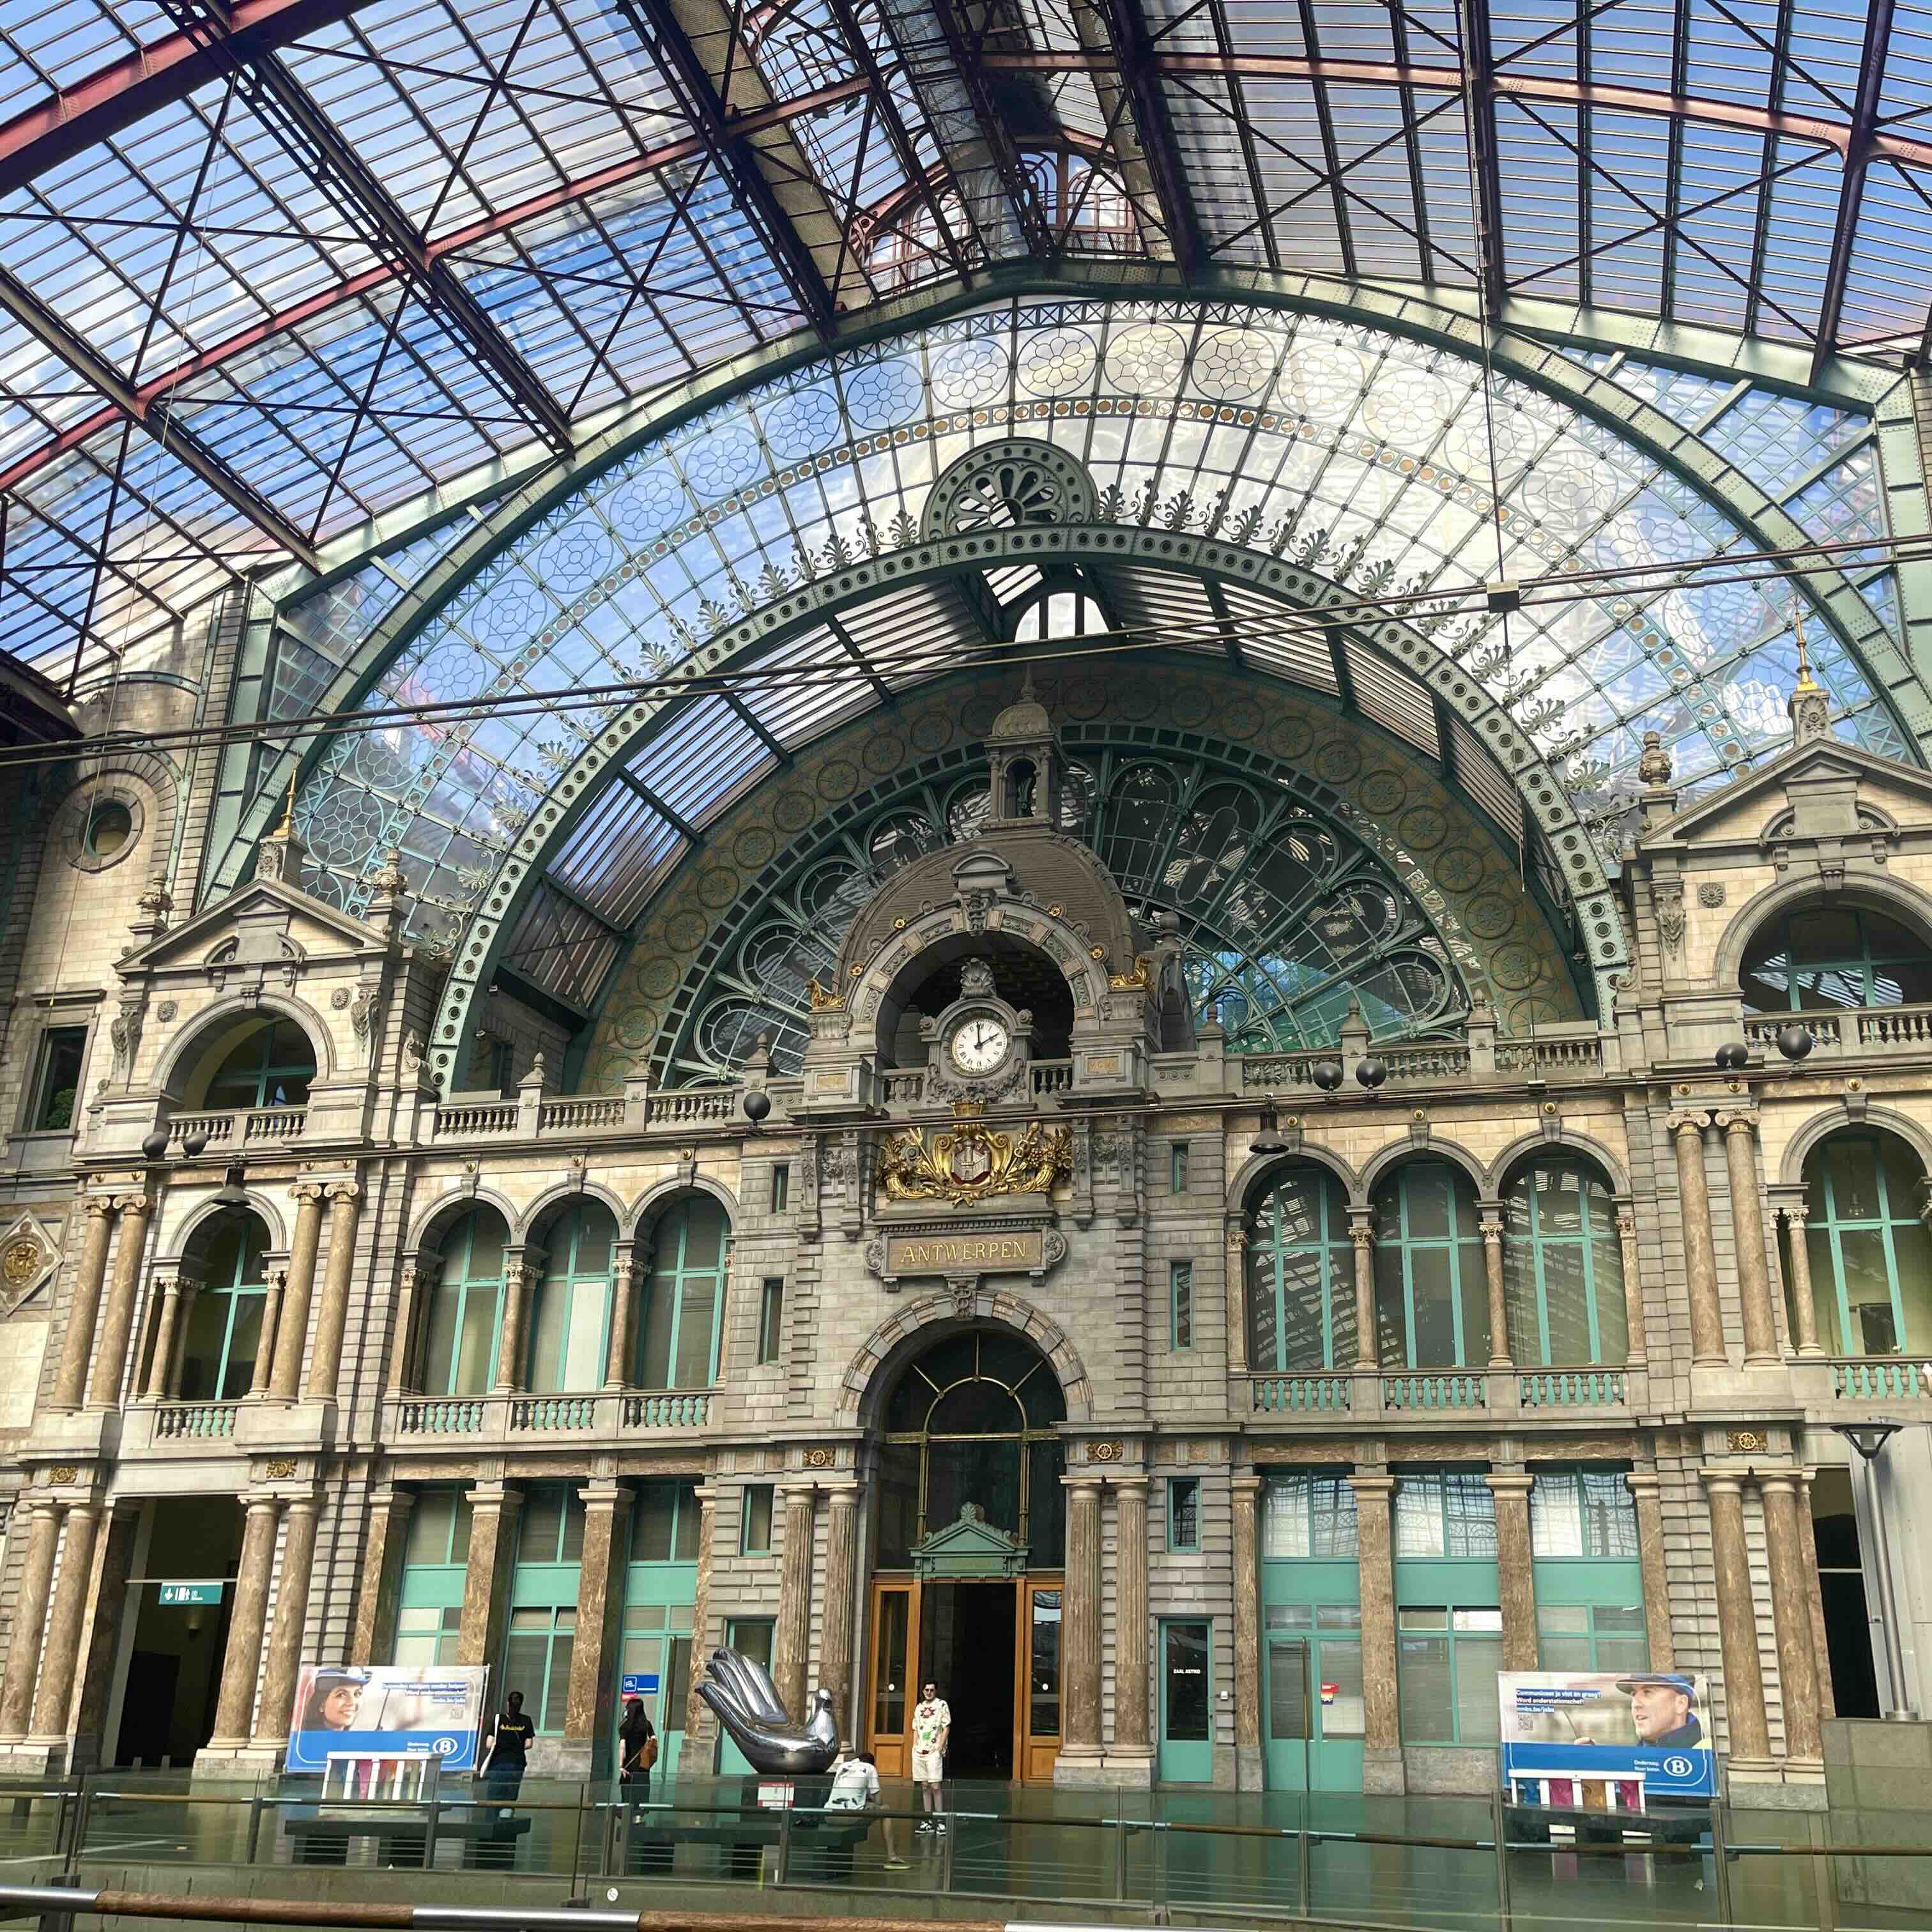
<svg viewBox="0 0 1932 1932">
<path fill-rule="evenodd" d="M 1381 1360 L 1480 1368 L 1490 1287 L 1476 1188 L 1447 1161 L 1405 1161 L 1376 1188 L 1376 1333 Z"/>
</svg>

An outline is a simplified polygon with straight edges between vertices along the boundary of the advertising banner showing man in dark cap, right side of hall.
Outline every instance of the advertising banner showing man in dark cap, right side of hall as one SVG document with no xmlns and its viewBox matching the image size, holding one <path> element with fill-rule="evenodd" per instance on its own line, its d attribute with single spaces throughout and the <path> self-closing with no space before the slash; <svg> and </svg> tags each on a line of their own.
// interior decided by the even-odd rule
<svg viewBox="0 0 1932 1932">
<path fill-rule="evenodd" d="M 1710 1687 L 1677 1671 L 1503 1671 L 1503 1783 L 1538 1804 L 1567 1804 L 1565 1785 L 1590 1785 L 1611 1808 L 1644 1810 L 1660 1797 L 1716 1795 Z M 1540 1789 L 1528 1789 L 1528 1787 Z M 1575 1799 L 1584 1803 L 1582 1797 Z"/>
</svg>

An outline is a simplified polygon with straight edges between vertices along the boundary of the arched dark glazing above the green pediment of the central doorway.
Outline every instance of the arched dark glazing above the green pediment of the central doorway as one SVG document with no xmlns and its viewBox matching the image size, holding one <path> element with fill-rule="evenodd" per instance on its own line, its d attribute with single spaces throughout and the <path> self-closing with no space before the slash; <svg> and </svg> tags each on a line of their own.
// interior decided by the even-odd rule
<svg viewBox="0 0 1932 1932">
<path fill-rule="evenodd" d="M 927 1349 L 893 1387 L 879 1457 L 879 1569 L 906 1569 L 966 1503 L 1026 1544 L 1030 1569 L 1066 1561 L 1066 1399 L 1047 1358 L 1018 1335 L 981 1329 Z"/>
</svg>

